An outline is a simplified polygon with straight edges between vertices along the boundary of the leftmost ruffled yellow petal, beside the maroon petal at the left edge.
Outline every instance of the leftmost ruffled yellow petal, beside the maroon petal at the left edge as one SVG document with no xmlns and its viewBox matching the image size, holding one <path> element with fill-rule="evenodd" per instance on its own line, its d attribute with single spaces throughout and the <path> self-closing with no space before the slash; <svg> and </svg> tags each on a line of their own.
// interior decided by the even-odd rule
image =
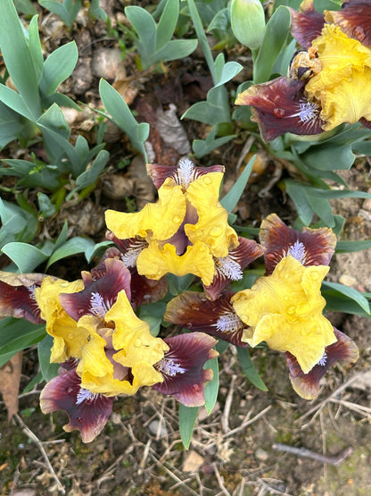
<svg viewBox="0 0 371 496">
<path fill-rule="evenodd" d="M 76 293 L 84 289 L 81 280 L 74 282 L 54 280 L 45 277 L 40 288 L 35 290 L 41 317 L 46 321 L 46 332 L 54 337 L 50 361 L 62 363 L 70 357 L 81 357 L 81 348 L 87 339 L 87 332 L 78 329 L 78 324 L 62 308 L 59 301 L 61 293 Z"/>
</svg>

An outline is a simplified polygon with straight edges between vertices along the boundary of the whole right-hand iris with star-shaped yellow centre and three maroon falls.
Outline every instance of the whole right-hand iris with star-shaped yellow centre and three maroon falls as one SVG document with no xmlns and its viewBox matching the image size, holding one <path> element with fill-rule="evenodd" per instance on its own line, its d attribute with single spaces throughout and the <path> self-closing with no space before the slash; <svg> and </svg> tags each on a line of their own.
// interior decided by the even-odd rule
<svg viewBox="0 0 371 496">
<path fill-rule="evenodd" d="M 336 237 L 328 228 L 295 231 L 271 214 L 261 224 L 260 243 L 267 273 L 251 290 L 224 293 L 215 301 L 187 291 L 169 302 L 165 319 L 239 347 L 266 342 L 285 353 L 293 389 L 315 398 L 330 366 L 359 356 L 354 342 L 322 313 L 320 286 Z"/>
</svg>

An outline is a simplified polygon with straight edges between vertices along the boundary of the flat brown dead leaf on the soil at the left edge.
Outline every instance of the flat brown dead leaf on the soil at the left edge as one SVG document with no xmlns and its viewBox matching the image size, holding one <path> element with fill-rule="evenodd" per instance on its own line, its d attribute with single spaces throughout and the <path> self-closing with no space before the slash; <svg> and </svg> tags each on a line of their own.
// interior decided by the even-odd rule
<svg viewBox="0 0 371 496">
<path fill-rule="evenodd" d="M 0 368 L 0 391 L 8 410 L 8 422 L 18 412 L 18 393 L 21 383 L 23 351 L 19 351 Z"/>
</svg>

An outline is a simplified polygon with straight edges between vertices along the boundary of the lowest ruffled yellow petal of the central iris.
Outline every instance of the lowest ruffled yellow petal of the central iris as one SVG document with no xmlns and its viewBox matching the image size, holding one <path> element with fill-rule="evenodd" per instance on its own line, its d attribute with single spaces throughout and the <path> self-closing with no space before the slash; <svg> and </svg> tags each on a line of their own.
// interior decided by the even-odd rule
<svg viewBox="0 0 371 496">
<path fill-rule="evenodd" d="M 206 286 L 211 284 L 215 271 L 214 259 L 202 241 L 196 241 L 193 246 L 187 247 L 182 256 L 177 255 L 173 245 L 166 243 L 160 247 L 153 241 L 138 256 L 136 267 L 138 273 L 156 281 L 167 273 L 194 273 L 201 277 Z"/>
</svg>

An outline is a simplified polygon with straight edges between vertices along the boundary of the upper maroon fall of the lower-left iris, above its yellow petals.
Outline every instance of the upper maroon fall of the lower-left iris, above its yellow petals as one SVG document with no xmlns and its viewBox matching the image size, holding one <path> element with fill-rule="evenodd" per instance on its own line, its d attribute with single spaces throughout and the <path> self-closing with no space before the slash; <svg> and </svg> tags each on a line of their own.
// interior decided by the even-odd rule
<svg viewBox="0 0 371 496">
<path fill-rule="evenodd" d="M 116 258 L 107 258 L 104 263 L 106 272 L 103 277 L 94 280 L 91 274 L 84 273 L 84 290 L 59 296 L 62 307 L 76 321 L 82 315 L 96 315 L 104 319 L 120 290 L 125 290 L 128 299 L 131 298 L 127 266 Z"/>
</svg>

